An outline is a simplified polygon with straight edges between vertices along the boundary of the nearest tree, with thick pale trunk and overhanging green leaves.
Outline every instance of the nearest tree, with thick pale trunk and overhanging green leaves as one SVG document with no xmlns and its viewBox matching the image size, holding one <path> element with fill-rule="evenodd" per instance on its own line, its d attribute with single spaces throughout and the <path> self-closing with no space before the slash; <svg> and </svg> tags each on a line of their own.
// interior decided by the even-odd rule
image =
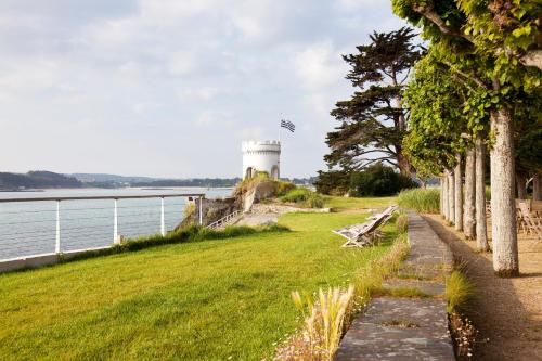
<svg viewBox="0 0 542 361">
<path fill-rule="evenodd" d="M 519 272 L 515 217 L 514 105 L 518 90 L 540 87 L 541 7 L 535 1 L 392 0 L 395 12 L 422 26 L 443 63 L 485 92 L 491 118 L 493 268 Z"/>
</svg>

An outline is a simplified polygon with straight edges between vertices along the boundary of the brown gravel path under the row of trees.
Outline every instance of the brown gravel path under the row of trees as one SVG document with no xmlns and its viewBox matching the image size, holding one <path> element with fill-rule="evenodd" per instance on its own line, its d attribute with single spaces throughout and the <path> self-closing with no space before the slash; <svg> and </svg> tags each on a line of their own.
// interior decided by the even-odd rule
<svg viewBox="0 0 542 361">
<path fill-rule="evenodd" d="M 521 276 L 500 279 L 493 273 L 491 255 L 474 252 L 474 242 L 463 241 L 436 215 L 424 218 L 448 243 L 456 261 L 465 266 L 476 286 L 476 298 L 466 311 L 479 330 L 474 360 L 542 360 L 542 258 L 541 253 L 520 244 Z M 470 244 L 470 245 L 469 245 Z M 530 254 L 530 255 L 527 255 Z M 530 259 L 527 259 L 527 258 Z"/>
</svg>

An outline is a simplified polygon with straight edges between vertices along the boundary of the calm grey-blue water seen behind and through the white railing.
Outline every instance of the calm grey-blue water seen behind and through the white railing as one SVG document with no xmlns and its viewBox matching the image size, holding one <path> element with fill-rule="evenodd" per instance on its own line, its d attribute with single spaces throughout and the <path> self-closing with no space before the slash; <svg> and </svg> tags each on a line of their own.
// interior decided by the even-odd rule
<svg viewBox="0 0 542 361">
<path fill-rule="evenodd" d="M 206 197 L 227 196 L 230 189 L 120 189 L 120 190 L 47 190 L 44 192 L 0 192 L 0 198 L 36 198 L 62 196 L 154 195 L 205 193 Z M 183 218 L 184 197 L 165 198 L 166 230 L 172 230 Z M 138 237 L 160 232 L 160 199 L 119 199 L 118 233 Z M 114 201 L 61 202 L 61 250 L 104 247 L 113 243 Z M 0 260 L 54 253 L 56 238 L 56 203 L 0 203 Z"/>
</svg>

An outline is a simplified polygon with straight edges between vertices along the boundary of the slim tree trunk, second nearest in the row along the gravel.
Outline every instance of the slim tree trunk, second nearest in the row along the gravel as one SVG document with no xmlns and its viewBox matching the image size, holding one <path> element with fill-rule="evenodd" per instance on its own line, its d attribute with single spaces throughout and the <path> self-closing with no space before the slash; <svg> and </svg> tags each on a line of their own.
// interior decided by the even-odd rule
<svg viewBox="0 0 542 361">
<path fill-rule="evenodd" d="M 486 145 L 481 139 L 476 139 L 476 243 L 478 249 L 489 250 L 488 230 L 486 222 Z"/>
</svg>

